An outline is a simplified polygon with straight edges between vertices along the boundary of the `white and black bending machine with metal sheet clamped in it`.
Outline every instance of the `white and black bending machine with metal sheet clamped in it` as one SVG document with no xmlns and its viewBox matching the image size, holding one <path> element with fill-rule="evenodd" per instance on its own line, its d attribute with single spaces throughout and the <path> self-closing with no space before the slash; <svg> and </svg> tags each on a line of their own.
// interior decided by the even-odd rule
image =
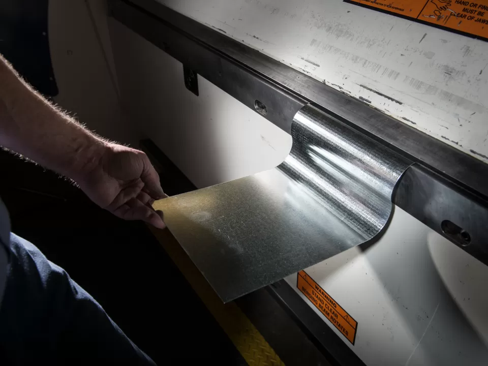
<svg viewBox="0 0 488 366">
<path fill-rule="evenodd" d="M 201 188 L 157 207 L 223 302 L 268 286 L 338 363 L 487 362 L 484 40 L 339 0 L 110 14 L 126 105 Z"/>
</svg>

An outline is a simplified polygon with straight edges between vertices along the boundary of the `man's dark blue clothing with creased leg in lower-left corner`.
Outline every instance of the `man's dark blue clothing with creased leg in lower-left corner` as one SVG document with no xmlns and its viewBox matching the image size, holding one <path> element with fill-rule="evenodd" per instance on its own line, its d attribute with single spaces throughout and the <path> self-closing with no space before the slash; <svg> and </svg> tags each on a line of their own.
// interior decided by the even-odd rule
<svg viewBox="0 0 488 366">
<path fill-rule="evenodd" d="M 68 273 L 10 233 L 9 214 L 0 200 L 0 364 L 88 364 L 96 359 L 156 365 Z"/>
</svg>

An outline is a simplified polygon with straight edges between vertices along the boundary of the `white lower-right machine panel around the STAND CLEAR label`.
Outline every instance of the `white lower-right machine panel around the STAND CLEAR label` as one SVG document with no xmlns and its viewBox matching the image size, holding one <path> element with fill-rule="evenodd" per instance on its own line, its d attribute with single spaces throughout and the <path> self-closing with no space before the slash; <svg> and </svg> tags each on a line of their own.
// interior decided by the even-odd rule
<svg viewBox="0 0 488 366">
<path fill-rule="evenodd" d="M 356 321 L 354 346 L 370 366 L 485 365 L 488 267 L 399 207 L 384 235 L 306 269 Z"/>
</svg>

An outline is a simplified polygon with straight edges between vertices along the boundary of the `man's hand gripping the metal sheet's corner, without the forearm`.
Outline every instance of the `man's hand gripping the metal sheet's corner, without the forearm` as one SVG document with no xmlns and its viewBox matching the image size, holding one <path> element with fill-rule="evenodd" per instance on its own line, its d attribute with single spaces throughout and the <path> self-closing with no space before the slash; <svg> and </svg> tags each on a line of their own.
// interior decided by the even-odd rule
<svg viewBox="0 0 488 366">
<path fill-rule="evenodd" d="M 158 173 L 142 151 L 104 143 L 86 170 L 74 178 L 92 201 L 119 218 L 165 227 L 162 211 L 155 211 L 151 205 L 167 196 Z"/>
</svg>

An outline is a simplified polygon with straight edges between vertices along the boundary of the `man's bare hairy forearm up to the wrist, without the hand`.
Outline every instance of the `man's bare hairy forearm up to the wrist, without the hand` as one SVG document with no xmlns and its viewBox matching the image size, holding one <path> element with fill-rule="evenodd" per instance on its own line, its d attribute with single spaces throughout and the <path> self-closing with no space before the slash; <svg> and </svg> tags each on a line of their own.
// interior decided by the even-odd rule
<svg viewBox="0 0 488 366">
<path fill-rule="evenodd" d="M 104 149 L 103 140 L 47 102 L 1 55 L 0 145 L 75 180 Z"/>
</svg>

